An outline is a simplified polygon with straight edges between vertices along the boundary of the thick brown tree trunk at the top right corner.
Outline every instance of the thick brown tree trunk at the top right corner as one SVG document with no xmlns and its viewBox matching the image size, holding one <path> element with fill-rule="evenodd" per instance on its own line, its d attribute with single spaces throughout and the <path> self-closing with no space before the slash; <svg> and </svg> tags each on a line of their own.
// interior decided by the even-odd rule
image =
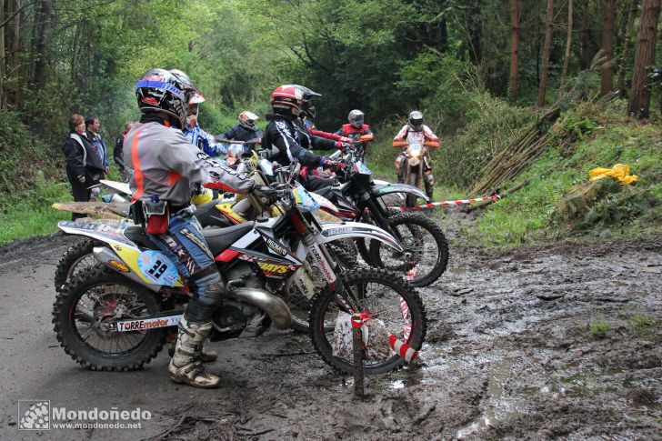
<svg viewBox="0 0 662 441">
<path fill-rule="evenodd" d="M 640 118 L 647 118 L 650 112 L 650 89 L 647 87 L 648 67 L 655 63 L 655 43 L 660 0 L 644 0 L 641 6 L 641 19 L 637 35 L 635 67 L 632 73 L 630 101 L 627 110 Z"/>
</svg>

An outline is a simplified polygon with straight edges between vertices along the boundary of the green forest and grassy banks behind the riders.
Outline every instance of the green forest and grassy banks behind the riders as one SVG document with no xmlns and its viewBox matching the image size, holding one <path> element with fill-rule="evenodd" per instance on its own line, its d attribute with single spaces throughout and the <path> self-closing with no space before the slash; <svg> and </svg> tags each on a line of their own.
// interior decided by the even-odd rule
<svg viewBox="0 0 662 441">
<path fill-rule="evenodd" d="M 69 115 L 98 115 L 112 154 L 139 117 L 133 86 L 151 67 L 191 76 L 212 134 L 245 109 L 264 124 L 281 84 L 322 94 L 326 131 L 359 108 L 376 131 L 368 164 L 383 175 L 390 140 L 422 110 L 443 140 L 438 197 L 528 183 L 486 210 L 478 240 L 654 234 L 659 21 L 660 0 L 0 0 L 0 243 L 67 217 L 49 206 L 70 198 L 60 150 Z M 504 160 L 531 133 L 535 155 Z M 617 162 L 639 175 L 636 189 L 594 189 L 568 214 L 587 171 Z M 500 167 L 517 173 L 485 181 Z"/>
</svg>

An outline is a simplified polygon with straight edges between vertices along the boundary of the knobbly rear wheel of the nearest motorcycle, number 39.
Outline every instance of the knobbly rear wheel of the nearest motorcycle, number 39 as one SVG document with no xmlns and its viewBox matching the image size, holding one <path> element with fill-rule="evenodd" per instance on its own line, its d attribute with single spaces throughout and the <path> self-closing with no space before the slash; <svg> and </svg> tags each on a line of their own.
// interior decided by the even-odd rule
<svg viewBox="0 0 662 441">
<path fill-rule="evenodd" d="M 155 294 L 105 266 L 91 266 L 68 280 L 55 297 L 55 336 L 65 352 L 92 370 L 140 369 L 158 354 L 165 328 L 106 331 L 99 325 L 114 319 L 150 316 L 161 310 Z M 115 346 L 115 349 L 114 349 Z"/>
</svg>

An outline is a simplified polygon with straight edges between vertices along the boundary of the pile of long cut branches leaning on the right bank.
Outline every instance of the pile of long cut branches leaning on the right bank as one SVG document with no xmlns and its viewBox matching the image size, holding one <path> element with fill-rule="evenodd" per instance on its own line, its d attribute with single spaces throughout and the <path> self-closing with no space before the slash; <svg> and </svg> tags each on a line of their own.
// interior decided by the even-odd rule
<svg viewBox="0 0 662 441">
<path fill-rule="evenodd" d="M 529 165 L 547 150 L 549 128 L 566 110 L 568 105 L 579 97 L 587 96 L 589 78 L 595 75 L 605 64 L 605 56 L 598 52 L 590 69 L 577 77 L 576 84 L 541 115 L 526 133 L 516 138 L 499 154 L 495 155 L 481 170 L 482 178 L 471 189 L 472 195 L 494 194 L 499 186 L 513 180 L 525 171 Z"/>
</svg>

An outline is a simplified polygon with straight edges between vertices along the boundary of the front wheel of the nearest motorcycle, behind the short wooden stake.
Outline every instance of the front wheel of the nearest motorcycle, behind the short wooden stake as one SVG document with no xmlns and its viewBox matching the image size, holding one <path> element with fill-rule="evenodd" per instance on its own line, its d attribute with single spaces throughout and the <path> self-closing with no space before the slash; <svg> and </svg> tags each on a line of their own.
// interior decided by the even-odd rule
<svg viewBox="0 0 662 441">
<path fill-rule="evenodd" d="M 395 336 L 413 349 L 420 349 L 426 336 L 426 311 L 416 291 L 396 274 L 376 268 L 342 273 L 338 295 L 325 289 L 313 299 L 310 336 L 326 363 L 342 372 L 353 371 L 352 313 L 368 319 L 364 349 L 364 372 L 383 374 L 404 365 L 389 346 Z M 335 323 L 329 328 L 329 323 Z"/>
</svg>

